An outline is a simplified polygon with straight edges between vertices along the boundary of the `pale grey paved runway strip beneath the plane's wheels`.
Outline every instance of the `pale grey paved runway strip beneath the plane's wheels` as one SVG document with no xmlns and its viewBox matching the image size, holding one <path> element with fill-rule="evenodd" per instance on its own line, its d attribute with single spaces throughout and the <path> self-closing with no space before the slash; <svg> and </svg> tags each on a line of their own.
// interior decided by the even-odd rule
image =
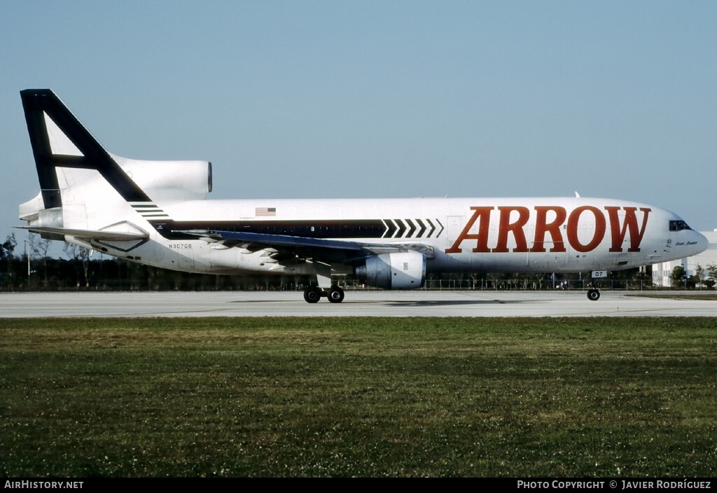
<svg viewBox="0 0 717 493">
<path fill-rule="evenodd" d="M 717 317 L 717 301 L 639 292 L 348 291 L 315 305 L 301 292 L 0 293 L 0 317 Z"/>
</svg>

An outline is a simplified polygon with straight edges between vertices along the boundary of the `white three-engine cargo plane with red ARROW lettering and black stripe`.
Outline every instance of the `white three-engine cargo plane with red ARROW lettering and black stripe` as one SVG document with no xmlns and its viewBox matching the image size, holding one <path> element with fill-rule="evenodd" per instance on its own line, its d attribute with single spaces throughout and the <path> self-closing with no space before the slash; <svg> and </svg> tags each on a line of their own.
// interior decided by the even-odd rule
<svg viewBox="0 0 717 493">
<path fill-rule="evenodd" d="M 206 200 L 209 161 L 109 153 L 49 89 L 20 92 L 40 193 L 17 226 L 155 267 L 309 274 L 304 299 L 343 301 L 334 279 L 418 289 L 434 272 L 592 272 L 703 252 L 665 209 L 609 198 Z M 599 290 L 587 291 L 598 300 Z"/>
</svg>

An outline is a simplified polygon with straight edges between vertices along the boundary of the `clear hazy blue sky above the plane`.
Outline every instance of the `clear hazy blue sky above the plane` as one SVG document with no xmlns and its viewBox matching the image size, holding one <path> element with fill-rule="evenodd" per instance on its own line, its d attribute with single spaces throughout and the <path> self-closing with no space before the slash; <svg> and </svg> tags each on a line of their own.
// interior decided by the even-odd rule
<svg viewBox="0 0 717 493">
<path fill-rule="evenodd" d="M 38 191 L 29 87 L 110 152 L 212 161 L 210 198 L 579 191 L 711 230 L 715 25 L 713 1 L 0 0 L 0 236 Z"/>
</svg>

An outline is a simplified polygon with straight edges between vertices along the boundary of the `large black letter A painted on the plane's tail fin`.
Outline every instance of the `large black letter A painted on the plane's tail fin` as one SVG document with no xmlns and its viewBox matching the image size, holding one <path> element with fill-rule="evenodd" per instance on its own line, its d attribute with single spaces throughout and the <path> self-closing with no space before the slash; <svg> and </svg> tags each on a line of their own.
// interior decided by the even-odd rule
<svg viewBox="0 0 717 493">
<path fill-rule="evenodd" d="M 97 170 L 125 201 L 151 201 L 52 90 L 22 90 L 20 97 L 45 209 L 62 206 L 58 167 Z"/>
</svg>

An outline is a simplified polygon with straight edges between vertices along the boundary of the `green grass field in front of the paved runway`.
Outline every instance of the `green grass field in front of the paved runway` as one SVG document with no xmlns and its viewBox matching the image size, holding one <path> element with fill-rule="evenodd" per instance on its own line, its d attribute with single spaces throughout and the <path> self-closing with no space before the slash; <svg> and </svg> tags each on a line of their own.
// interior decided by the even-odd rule
<svg viewBox="0 0 717 493">
<path fill-rule="evenodd" d="M 713 318 L 0 320 L 9 477 L 717 475 Z"/>
</svg>

